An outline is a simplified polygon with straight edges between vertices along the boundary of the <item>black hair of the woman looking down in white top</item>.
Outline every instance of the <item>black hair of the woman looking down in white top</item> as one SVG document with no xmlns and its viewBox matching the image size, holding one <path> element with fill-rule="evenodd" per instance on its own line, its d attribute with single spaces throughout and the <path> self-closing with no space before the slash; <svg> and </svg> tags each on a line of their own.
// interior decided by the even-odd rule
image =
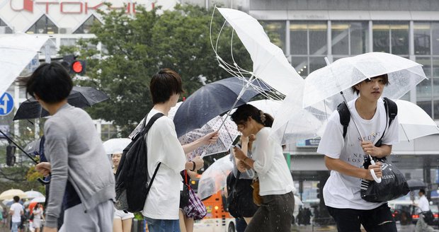
<svg viewBox="0 0 439 232">
<path fill-rule="evenodd" d="M 264 127 L 271 127 L 273 125 L 274 119 L 271 115 L 249 104 L 239 106 L 231 116 L 232 121 L 236 124 L 245 124 L 249 117 L 259 124 L 263 124 Z"/>
</svg>

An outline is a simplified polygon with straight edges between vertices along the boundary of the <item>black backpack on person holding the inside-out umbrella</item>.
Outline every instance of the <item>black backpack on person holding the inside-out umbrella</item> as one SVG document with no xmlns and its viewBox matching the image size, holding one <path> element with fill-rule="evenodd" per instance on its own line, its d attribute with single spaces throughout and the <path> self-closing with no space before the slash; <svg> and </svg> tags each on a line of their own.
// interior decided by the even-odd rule
<svg viewBox="0 0 439 232">
<path fill-rule="evenodd" d="M 143 121 L 142 131 L 132 137 L 132 141 L 123 149 L 122 157 L 116 172 L 116 202 L 115 208 L 132 213 L 143 210 L 144 203 L 147 200 L 149 189 L 159 170 L 159 163 L 149 181 L 147 167 L 147 144 L 145 137 L 152 124 L 164 116 L 162 113 L 156 113 L 149 120 L 145 127 L 146 117 Z"/>
</svg>

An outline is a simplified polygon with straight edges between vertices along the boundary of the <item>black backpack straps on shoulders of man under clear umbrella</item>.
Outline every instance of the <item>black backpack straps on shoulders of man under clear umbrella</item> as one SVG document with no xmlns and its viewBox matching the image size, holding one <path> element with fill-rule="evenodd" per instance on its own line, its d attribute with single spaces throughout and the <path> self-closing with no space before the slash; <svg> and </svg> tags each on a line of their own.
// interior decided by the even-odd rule
<svg viewBox="0 0 439 232">
<path fill-rule="evenodd" d="M 384 99 L 384 108 L 386 109 L 387 117 L 389 117 L 389 127 L 392 124 L 392 121 L 397 117 L 398 114 L 398 106 L 393 100 L 389 98 Z M 350 111 L 348 110 L 348 106 L 343 101 L 340 105 L 337 106 L 338 115 L 340 115 L 340 124 L 343 126 L 343 138 L 346 137 L 346 133 L 348 132 L 348 125 L 350 122 Z M 387 127 L 387 126 L 386 126 Z M 382 137 L 384 133 L 382 133 Z M 381 146 L 382 137 L 377 141 L 375 146 Z"/>
</svg>

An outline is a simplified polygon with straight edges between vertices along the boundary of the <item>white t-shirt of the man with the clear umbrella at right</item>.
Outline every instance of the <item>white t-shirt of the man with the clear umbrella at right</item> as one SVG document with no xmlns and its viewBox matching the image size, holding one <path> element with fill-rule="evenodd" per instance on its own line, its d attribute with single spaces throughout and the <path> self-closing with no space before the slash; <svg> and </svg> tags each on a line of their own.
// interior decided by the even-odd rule
<svg viewBox="0 0 439 232">
<path fill-rule="evenodd" d="M 364 120 L 355 109 L 355 100 L 351 100 L 348 103 L 350 112 L 358 124 L 363 139 L 365 141 L 372 141 L 375 144 L 381 138 L 388 118 L 384 108 L 384 101 L 382 99 L 378 100 L 375 115 L 371 120 Z M 395 117 L 390 127 L 384 132 L 382 144 L 396 144 L 399 141 L 398 128 L 398 117 Z M 363 168 L 365 153 L 361 148 L 361 138 L 352 118 L 349 121 L 345 141 L 338 111 L 334 111 L 331 117 L 329 117 L 329 122 L 323 137 L 321 137 L 317 153 L 324 154 L 330 158 L 339 158 L 350 165 Z M 383 202 L 366 202 L 362 199 L 360 197 L 360 183 L 360 178 L 331 170 L 331 175 L 326 181 L 323 190 L 326 206 L 338 209 L 375 209 L 384 204 Z"/>
</svg>

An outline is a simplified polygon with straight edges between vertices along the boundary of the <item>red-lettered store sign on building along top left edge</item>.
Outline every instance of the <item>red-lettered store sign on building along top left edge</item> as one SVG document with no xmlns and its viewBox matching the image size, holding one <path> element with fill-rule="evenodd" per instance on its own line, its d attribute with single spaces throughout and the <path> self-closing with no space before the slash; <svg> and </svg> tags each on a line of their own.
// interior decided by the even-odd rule
<svg viewBox="0 0 439 232">
<path fill-rule="evenodd" d="M 104 2 L 99 1 L 96 3 L 90 3 L 89 1 L 32 1 L 32 0 L 9 0 L 10 6 L 13 11 L 28 11 L 33 13 L 34 6 L 40 6 L 45 9 L 45 13 L 49 15 L 58 11 L 62 14 L 89 14 L 89 11 L 96 11 L 98 9 L 108 8 L 108 9 L 126 9 L 126 13 L 136 13 L 136 4 L 127 2 L 126 6 L 107 6 Z M 152 8 L 154 8 L 154 3 L 152 3 Z"/>
</svg>

